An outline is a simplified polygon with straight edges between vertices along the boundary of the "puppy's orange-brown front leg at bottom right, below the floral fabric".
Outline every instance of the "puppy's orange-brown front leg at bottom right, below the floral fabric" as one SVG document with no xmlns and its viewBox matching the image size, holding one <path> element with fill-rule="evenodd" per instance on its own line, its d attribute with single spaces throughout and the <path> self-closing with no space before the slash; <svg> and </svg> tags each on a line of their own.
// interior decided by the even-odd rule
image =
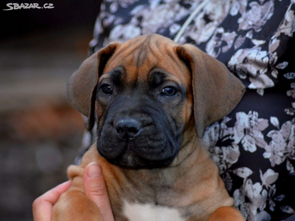
<svg viewBox="0 0 295 221">
<path fill-rule="evenodd" d="M 209 221 L 245 221 L 245 219 L 235 207 L 222 206 L 212 213 Z"/>
</svg>

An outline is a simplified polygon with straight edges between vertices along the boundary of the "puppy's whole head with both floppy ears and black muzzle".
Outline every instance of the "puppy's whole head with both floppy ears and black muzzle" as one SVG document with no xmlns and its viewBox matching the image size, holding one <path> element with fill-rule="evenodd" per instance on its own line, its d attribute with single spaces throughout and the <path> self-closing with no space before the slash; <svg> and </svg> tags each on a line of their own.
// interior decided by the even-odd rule
<svg viewBox="0 0 295 221">
<path fill-rule="evenodd" d="M 242 83 L 195 46 L 160 35 L 114 42 L 86 59 L 68 82 L 71 104 L 97 116 L 97 149 L 125 167 L 171 164 L 191 131 L 224 117 Z"/>
</svg>

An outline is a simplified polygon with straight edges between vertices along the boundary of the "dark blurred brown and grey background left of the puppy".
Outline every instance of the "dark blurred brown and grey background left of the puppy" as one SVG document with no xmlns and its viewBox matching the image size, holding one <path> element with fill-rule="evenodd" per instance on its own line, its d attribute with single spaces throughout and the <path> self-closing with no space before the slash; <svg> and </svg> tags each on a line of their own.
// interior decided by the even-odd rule
<svg viewBox="0 0 295 221">
<path fill-rule="evenodd" d="M 0 220 L 32 220 L 32 202 L 67 180 L 84 130 L 65 97 L 86 59 L 100 1 L 0 3 Z"/>
</svg>

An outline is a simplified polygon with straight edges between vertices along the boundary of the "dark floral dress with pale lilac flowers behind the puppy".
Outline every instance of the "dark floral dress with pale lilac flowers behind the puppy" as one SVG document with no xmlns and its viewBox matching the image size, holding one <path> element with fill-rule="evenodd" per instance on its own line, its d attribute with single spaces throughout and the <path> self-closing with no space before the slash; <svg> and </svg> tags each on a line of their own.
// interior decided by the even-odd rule
<svg viewBox="0 0 295 221">
<path fill-rule="evenodd" d="M 142 34 L 174 39 L 203 1 L 105 0 L 89 55 Z M 248 221 L 280 221 L 295 210 L 294 11 L 295 0 L 211 0 L 179 38 L 223 62 L 247 87 L 204 140 Z"/>
</svg>

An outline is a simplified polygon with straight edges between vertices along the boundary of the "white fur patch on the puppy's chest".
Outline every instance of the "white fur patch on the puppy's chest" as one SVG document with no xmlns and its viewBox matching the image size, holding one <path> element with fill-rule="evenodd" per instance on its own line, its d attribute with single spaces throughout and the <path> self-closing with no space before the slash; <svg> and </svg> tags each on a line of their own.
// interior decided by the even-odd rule
<svg viewBox="0 0 295 221">
<path fill-rule="evenodd" d="M 124 201 L 124 215 L 129 221 L 185 221 L 175 208 Z"/>
</svg>

